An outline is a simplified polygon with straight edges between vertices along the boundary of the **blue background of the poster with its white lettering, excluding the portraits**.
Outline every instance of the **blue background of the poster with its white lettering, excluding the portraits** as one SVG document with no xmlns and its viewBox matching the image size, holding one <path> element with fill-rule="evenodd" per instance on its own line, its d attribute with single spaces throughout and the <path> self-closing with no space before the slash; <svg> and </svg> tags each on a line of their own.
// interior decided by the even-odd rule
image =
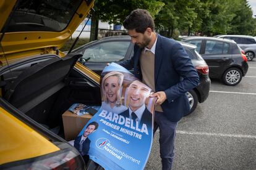
<svg viewBox="0 0 256 170">
<path fill-rule="evenodd" d="M 111 63 L 103 70 L 103 72 L 109 71 L 130 73 L 116 63 Z M 98 123 L 98 129 L 88 136 L 91 140 L 88 152 L 90 159 L 105 169 L 145 168 L 153 140 L 153 121 L 136 128 L 131 119 L 100 108 L 83 127 L 79 136 L 93 121 Z"/>
</svg>

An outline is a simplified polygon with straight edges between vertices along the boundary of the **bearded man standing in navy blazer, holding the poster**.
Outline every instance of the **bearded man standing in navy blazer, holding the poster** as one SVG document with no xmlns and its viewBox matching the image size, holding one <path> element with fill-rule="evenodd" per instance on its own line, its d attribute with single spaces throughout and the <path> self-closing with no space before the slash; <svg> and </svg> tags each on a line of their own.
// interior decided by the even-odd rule
<svg viewBox="0 0 256 170">
<path fill-rule="evenodd" d="M 133 10 L 124 20 L 132 38 L 134 56 L 121 65 L 134 74 L 158 97 L 154 131 L 160 127 L 162 169 L 171 169 L 177 122 L 190 111 L 186 92 L 198 85 L 197 71 L 179 42 L 155 33 L 147 10 Z"/>
</svg>

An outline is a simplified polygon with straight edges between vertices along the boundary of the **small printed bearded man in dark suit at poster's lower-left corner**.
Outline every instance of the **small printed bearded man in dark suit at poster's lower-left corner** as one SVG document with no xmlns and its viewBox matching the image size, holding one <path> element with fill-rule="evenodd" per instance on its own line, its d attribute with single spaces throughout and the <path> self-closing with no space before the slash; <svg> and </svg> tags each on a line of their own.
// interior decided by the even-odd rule
<svg viewBox="0 0 256 170">
<path fill-rule="evenodd" d="M 74 141 L 74 147 L 81 153 L 85 161 L 88 161 L 88 151 L 91 140 L 88 136 L 98 128 L 98 123 L 93 121 L 89 123 L 81 136 L 77 136 Z"/>
</svg>

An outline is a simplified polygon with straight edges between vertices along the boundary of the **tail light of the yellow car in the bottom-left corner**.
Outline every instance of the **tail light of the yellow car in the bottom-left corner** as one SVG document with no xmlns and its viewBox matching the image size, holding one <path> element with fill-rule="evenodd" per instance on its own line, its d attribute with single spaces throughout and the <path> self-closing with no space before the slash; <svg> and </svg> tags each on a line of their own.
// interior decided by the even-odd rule
<svg viewBox="0 0 256 170">
<path fill-rule="evenodd" d="M 25 163 L 9 163 L 4 168 L 11 169 L 85 169 L 82 157 L 77 152 L 66 150 L 26 160 Z"/>
</svg>

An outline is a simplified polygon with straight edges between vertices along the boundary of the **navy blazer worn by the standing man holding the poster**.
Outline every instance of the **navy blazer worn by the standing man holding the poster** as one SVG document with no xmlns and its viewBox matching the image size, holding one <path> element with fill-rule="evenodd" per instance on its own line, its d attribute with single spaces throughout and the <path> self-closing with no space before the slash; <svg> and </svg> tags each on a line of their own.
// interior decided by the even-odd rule
<svg viewBox="0 0 256 170">
<path fill-rule="evenodd" d="M 120 65 L 142 79 L 139 57 L 143 49 L 134 46 L 134 56 Z M 179 42 L 158 34 L 155 51 L 155 90 L 164 91 L 167 100 L 161 105 L 169 121 L 177 122 L 190 111 L 186 92 L 199 83 L 197 71 Z"/>
</svg>

